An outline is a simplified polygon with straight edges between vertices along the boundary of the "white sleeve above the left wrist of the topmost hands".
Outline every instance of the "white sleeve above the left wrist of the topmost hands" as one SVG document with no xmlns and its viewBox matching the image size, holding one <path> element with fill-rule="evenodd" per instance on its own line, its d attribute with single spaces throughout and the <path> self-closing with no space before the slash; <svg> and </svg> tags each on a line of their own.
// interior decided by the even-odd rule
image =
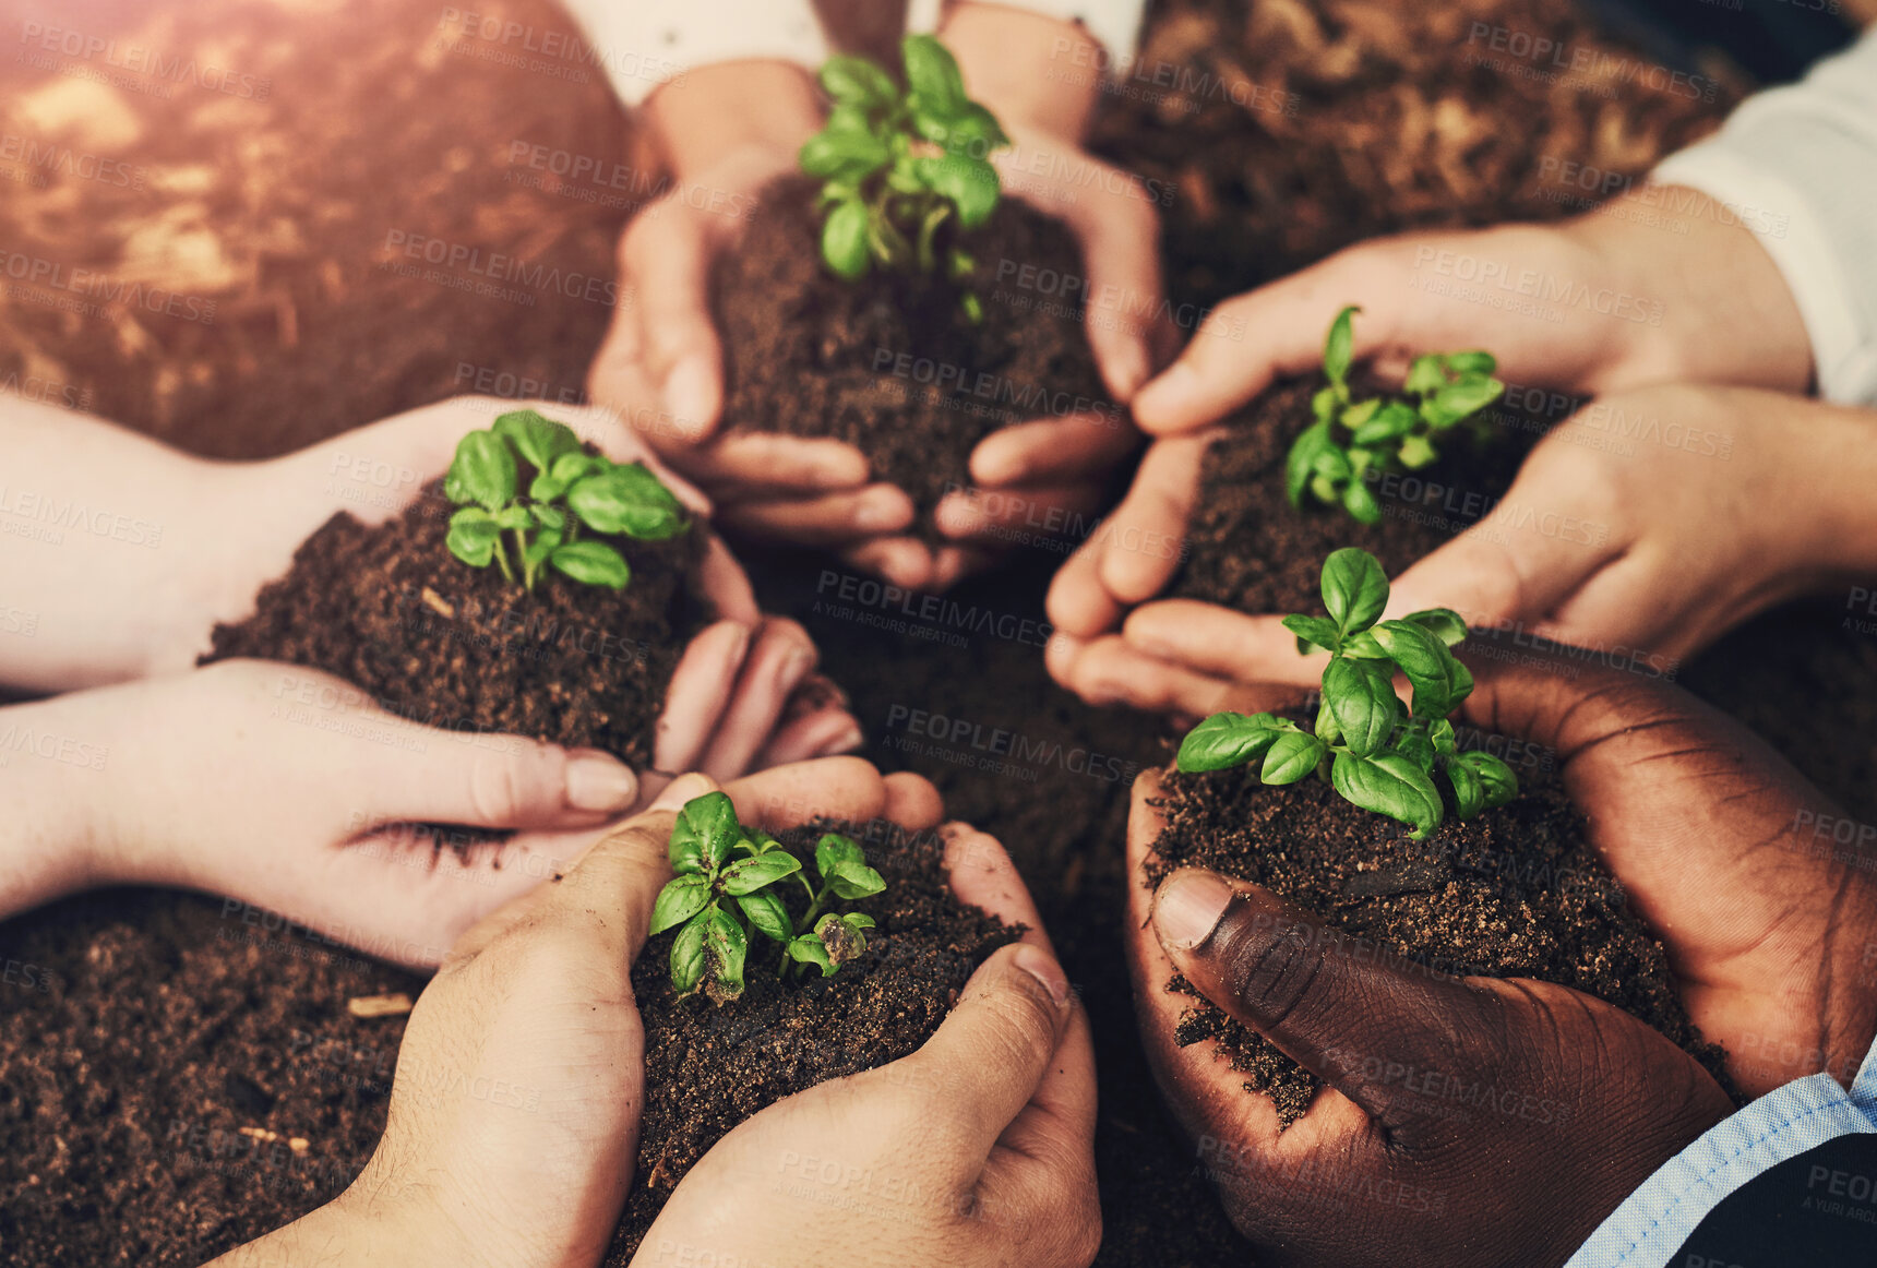
<svg viewBox="0 0 1877 1268">
<path fill-rule="evenodd" d="M 563 2 L 627 105 L 711 62 L 764 58 L 815 73 L 828 60 L 828 39 L 809 0 Z"/>
</svg>

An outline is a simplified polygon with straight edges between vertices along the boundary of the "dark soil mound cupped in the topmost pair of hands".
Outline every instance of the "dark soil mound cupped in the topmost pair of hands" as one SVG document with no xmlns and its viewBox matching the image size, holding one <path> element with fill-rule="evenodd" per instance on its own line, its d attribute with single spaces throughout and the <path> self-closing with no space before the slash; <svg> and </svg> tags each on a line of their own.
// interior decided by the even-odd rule
<svg viewBox="0 0 1877 1268">
<path fill-rule="evenodd" d="M 972 325 L 952 283 L 830 274 L 816 188 L 805 176 L 768 186 L 741 249 L 717 264 L 726 430 L 850 441 L 925 523 L 999 428 L 1076 413 L 1128 426 L 1102 388 L 1081 308 L 1061 304 L 1062 279 L 1087 272 L 1061 221 L 1006 197 L 970 233 L 969 285 L 984 306 Z"/>
</svg>

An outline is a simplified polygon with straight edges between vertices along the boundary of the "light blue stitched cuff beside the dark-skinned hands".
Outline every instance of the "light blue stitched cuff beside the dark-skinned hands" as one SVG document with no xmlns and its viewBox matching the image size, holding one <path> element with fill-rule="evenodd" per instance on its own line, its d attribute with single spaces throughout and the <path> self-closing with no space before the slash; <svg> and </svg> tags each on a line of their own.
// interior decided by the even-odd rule
<svg viewBox="0 0 1877 1268">
<path fill-rule="evenodd" d="M 1729 1193 L 1778 1163 L 1858 1131 L 1877 1133 L 1877 1045 L 1864 1056 L 1851 1092 L 1830 1075 L 1794 1079 L 1710 1127 L 1610 1212 L 1565 1268 L 1665 1268 Z"/>
</svg>

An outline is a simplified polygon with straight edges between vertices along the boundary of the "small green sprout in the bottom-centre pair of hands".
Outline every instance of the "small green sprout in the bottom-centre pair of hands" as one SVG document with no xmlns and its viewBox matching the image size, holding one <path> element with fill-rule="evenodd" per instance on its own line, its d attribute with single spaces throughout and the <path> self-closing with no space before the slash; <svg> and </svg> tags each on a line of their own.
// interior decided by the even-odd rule
<svg viewBox="0 0 1877 1268">
<path fill-rule="evenodd" d="M 721 792 L 685 803 L 672 825 L 670 855 L 678 876 L 651 908 L 651 932 L 683 925 L 672 942 L 672 989 L 679 998 L 702 990 L 715 1004 L 743 994 L 749 928 L 783 943 L 777 977 L 803 964 L 828 977 L 867 949 L 873 917 L 822 908 L 886 889 L 860 844 L 841 833 L 822 833 L 815 844 L 816 889 L 801 859 L 762 829 L 738 823 L 736 807 Z M 790 876 L 809 897 L 800 917 L 788 915 L 777 893 Z"/>
</svg>

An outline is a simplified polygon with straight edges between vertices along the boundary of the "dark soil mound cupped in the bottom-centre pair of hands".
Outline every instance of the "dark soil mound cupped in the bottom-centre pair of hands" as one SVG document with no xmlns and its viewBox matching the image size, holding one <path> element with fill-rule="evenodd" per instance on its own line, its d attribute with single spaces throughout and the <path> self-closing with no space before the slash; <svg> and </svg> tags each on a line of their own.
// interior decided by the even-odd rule
<svg viewBox="0 0 1877 1268">
<path fill-rule="evenodd" d="M 685 1172 L 745 1118 L 818 1082 L 886 1065 L 925 1043 L 957 1004 L 972 970 L 1021 928 L 952 897 L 944 842 L 877 822 L 815 825 L 781 835 L 811 861 L 822 831 L 845 831 L 867 850 L 886 891 L 841 912 L 865 912 L 878 928 L 867 949 L 833 977 L 777 981 L 781 947 L 753 938 L 740 1000 L 717 1007 L 678 1000 L 670 983 L 676 930 L 653 938 L 633 966 L 633 994 L 646 1022 L 646 1114 L 633 1193 L 606 1255 L 623 1268 Z M 800 885 L 785 889 L 790 915 L 807 908 Z"/>
</svg>

